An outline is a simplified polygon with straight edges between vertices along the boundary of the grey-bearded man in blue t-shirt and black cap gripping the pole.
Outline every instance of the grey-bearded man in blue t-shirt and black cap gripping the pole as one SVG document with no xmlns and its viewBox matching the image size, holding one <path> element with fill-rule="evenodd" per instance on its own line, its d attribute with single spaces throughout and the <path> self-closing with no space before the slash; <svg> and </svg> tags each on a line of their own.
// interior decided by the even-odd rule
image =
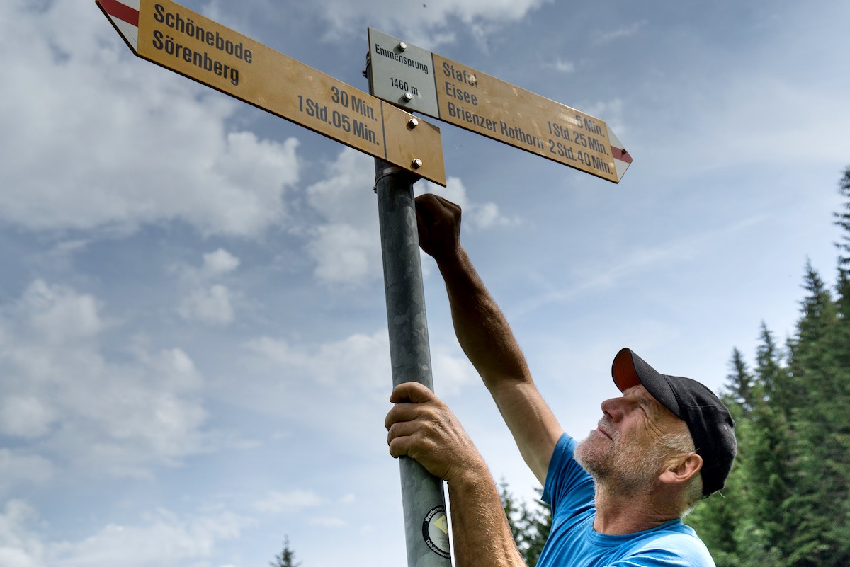
<svg viewBox="0 0 850 567">
<path fill-rule="evenodd" d="M 416 199 L 422 250 L 445 280 L 463 351 L 478 370 L 525 463 L 544 486 L 553 527 L 540 567 L 713 566 L 682 518 L 723 487 L 736 451 L 734 422 L 711 390 L 667 376 L 628 349 L 614 359 L 622 396 L 576 443 L 531 379 L 501 310 L 460 244 L 460 207 Z M 484 458 L 445 403 L 422 385 L 397 386 L 386 419 L 390 454 L 415 458 L 449 488 L 459 567 L 519 566 Z"/>
</svg>

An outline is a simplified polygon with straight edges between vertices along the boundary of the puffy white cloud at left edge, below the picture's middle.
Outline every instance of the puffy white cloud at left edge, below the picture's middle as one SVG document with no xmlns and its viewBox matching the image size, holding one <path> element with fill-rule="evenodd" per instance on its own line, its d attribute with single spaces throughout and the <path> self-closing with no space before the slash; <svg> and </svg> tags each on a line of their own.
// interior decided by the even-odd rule
<svg viewBox="0 0 850 567">
<path fill-rule="evenodd" d="M 30 460 L 6 455 L 9 474 L 46 474 L 44 458 L 87 474 L 144 474 L 203 450 L 203 380 L 190 357 L 138 346 L 106 356 L 102 309 L 92 295 L 42 280 L 0 306 L 0 433 L 40 447 Z"/>
</svg>

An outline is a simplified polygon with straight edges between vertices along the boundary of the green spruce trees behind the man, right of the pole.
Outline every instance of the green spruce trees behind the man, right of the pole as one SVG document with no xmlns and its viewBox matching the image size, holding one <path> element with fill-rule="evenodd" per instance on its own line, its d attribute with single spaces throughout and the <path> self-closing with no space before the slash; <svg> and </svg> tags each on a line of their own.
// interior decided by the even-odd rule
<svg viewBox="0 0 850 567">
<path fill-rule="evenodd" d="M 718 392 L 737 424 L 738 458 L 720 493 L 685 521 L 717 567 L 850 565 L 850 166 L 839 182 L 836 284 L 811 264 L 796 328 L 762 323 L 753 362 L 737 348 Z M 534 567 L 551 514 L 501 486 L 520 553 Z"/>
</svg>

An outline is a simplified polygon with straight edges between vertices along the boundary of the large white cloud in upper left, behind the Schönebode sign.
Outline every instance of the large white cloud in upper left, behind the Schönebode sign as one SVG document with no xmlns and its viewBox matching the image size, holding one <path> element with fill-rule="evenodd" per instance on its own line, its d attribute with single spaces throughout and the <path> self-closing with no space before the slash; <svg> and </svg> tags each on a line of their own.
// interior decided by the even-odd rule
<svg viewBox="0 0 850 567">
<path fill-rule="evenodd" d="M 297 141 L 227 132 L 234 101 L 133 57 L 94 3 L 3 3 L 0 53 L 14 53 L 0 100 L 3 222 L 133 230 L 179 219 L 255 236 L 286 217 Z"/>
</svg>

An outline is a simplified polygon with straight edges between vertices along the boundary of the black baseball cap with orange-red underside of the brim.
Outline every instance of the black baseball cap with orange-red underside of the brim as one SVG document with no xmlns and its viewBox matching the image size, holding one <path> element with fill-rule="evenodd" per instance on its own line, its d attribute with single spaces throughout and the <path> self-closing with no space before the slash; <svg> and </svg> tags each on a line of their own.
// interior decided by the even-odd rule
<svg viewBox="0 0 850 567">
<path fill-rule="evenodd" d="M 614 357 L 611 376 L 621 391 L 643 385 L 688 424 L 696 453 L 702 457 L 703 497 L 723 488 L 738 452 L 735 422 L 723 401 L 696 380 L 658 372 L 631 349 L 622 349 Z"/>
</svg>

